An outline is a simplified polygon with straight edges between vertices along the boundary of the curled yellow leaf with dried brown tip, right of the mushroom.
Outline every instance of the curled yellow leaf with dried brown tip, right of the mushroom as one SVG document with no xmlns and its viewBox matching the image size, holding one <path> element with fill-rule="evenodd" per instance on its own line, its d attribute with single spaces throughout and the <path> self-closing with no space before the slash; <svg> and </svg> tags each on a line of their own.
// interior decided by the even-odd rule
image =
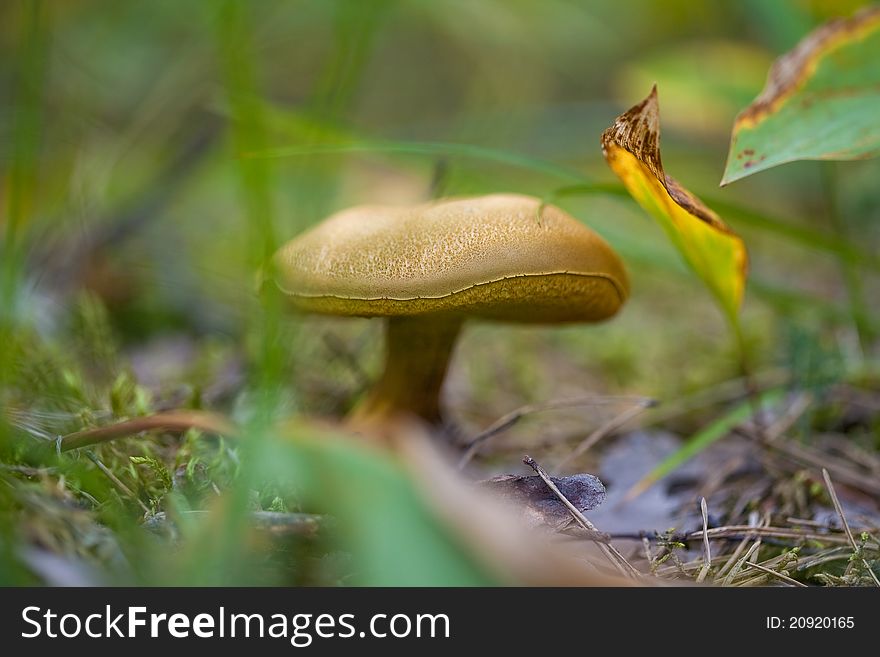
<svg viewBox="0 0 880 657">
<path fill-rule="evenodd" d="M 630 195 L 660 223 L 736 325 L 748 269 L 746 247 L 717 214 L 664 173 L 656 85 L 602 133 L 602 152 Z"/>
</svg>

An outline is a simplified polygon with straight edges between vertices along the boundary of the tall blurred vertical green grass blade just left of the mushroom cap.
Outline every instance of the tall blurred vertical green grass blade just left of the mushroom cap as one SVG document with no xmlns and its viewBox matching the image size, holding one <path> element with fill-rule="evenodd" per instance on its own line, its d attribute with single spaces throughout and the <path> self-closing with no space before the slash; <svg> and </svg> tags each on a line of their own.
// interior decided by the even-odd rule
<svg viewBox="0 0 880 657">
<path fill-rule="evenodd" d="M 236 152 L 262 148 L 267 143 L 258 75 L 255 67 L 251 12 L 254 7 L 239 0 L 225 0 L 213 9 L 218 65 L 232 114 L 229 125 Z M 272 203 L 272 172 L 265 161 L 237 159 L 234 164 L 241 185 L 244 234 L 248 263 L 262 266 L 274 253 L 277 237 Z M 283 341 L 280 339 L 280 303 L 274 296 L 249 315 L 248 333 L 253 336 L 253 408 L 244 427 L 248 440 L 239 446 L 240 475 L 230 493 L 217 501 L 216 513 L 203 526 L 194 527 L 176 560 L 174 571 L 183 583 L 234 585 L 253 581 L 255 567 L 248 550 L 250 490 L 259 489 L 262 478 L 255 465 L 269 449 L 271 427 L 282 389 Z"/>
</svg>

